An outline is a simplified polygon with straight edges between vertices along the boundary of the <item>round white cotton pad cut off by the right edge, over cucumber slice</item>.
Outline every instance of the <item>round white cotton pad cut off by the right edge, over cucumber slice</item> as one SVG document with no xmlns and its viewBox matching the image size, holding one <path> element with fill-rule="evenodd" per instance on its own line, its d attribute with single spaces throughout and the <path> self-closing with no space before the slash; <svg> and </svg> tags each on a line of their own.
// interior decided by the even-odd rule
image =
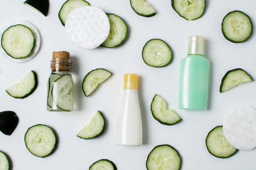
<svg viewBox="0 0 256 170">
<path fill-rule="evenodd" d="M 247 106 L 228 113 L 223 123 L 225 138 L 239 150 L 256 147 L 256 110 Z"/>
</svg>

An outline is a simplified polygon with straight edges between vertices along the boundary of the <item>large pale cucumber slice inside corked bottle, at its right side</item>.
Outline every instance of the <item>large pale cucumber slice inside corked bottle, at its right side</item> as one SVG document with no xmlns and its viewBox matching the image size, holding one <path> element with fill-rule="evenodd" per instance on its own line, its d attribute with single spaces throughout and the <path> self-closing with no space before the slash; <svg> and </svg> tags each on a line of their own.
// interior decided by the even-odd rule
<svg viewBox="0 0 256 170">
<path fill-rule="evenodd" d="M 65 74 L 55 80 L 52 85 L 52 100 L 61 110 L 74 109 L 74 82 L 71 75 Z"/>
</svg>

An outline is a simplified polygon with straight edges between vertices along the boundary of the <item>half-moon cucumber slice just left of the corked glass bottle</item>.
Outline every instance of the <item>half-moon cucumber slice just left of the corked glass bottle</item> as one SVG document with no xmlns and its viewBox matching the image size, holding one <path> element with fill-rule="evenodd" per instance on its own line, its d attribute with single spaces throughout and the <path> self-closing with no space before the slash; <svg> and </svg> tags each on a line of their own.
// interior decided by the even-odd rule
<svg viewBox="0 0 256 170">
<path fill-rule="evenodd" d="M 37 87 L 37 75 L 34 71 L 30 71 L 19 83 L 14 84 L 6 90 L 6 92 L 14 97 L 24 99 L 31 95 Z"/>
</svg>

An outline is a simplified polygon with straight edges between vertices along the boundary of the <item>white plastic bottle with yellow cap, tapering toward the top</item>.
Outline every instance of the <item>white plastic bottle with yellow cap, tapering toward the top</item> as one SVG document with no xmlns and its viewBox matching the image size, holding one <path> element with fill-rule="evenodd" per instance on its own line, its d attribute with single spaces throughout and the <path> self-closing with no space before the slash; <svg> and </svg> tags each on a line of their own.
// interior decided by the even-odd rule
<svg viewBox="0 0 256 170">
<path fill-rule="evenodd" d="M 138 97 L 138 75 L 124 75 L 124 92 L 117 121 L 116 144 L 142 145 L 141 110 Z"/>
</svg>

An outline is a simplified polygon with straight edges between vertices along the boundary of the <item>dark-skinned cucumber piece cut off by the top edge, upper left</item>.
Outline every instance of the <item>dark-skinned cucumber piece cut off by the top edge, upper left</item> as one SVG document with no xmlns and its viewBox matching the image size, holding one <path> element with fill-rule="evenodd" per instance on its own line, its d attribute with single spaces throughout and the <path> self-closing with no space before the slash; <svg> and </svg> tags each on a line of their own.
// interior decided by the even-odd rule
<svg viewBox="0 0 256 170">
<path fill-rule="evenodd" d="M 49 9 L 49 0 L 26 0 L 25 5 L 46 16 Z"/>
</svg>

